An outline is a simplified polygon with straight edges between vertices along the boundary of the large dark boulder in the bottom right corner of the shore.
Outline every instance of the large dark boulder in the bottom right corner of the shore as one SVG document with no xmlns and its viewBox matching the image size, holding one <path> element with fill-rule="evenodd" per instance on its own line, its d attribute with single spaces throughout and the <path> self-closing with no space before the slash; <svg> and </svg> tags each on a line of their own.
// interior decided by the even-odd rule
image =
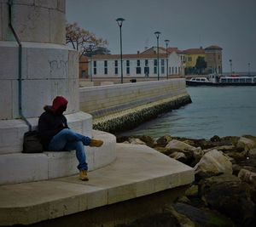
<svg viewBox="0 0 256 227">
<path fill-rule="evenodd" d="M 234 175 L 214 176 L 199 183 L 199 195 L 209 207 L 232 218 L 238 226 L 255 226 L 251 186 Z"/>
</svg>

